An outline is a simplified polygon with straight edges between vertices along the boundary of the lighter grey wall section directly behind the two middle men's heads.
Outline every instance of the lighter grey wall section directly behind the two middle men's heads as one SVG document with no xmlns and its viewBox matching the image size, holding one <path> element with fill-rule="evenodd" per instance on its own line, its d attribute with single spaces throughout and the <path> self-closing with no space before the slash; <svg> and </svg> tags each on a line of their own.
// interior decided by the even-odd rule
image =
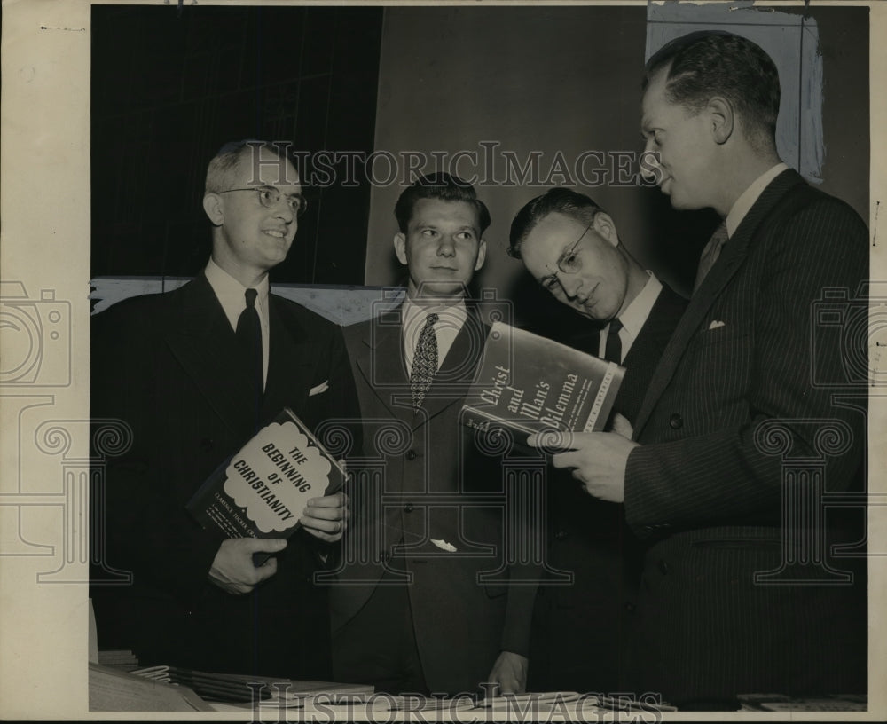
<svg viewBox="0 0 887 724">
<path fill-rule="evenodd" d="M 479 153 L 476 165 L 462 161 L 452 170 L 479 177 L 478 194 L 491 211 L 480 286 L 513 300 L 514 319 L 546 334 L 557 336 L 558 324 L 588 322 L 565 313 L 505 250 L 518 209 L 552 185 L 570 185 L 552 173 L 558 154 L 571 175 L 580 153 L 603 154 L 585 166 L 587 179 L 595 182 L 597 173 L 599 183 L 572 183 L 613 213 L 629 248 L 653 235 L 667 207 L 658 191 L 625 181 L 615 168 L 616 154 L 627 154 L 621 175 L 632 177 L 632 155 L 642 150 L 639 68 L 646 29 L 643 6 L 402 6 L 385 13 L 376 148 L 446 152 L 451 159 L 460 151 Z M 498 143 L 489 177 L 479 141 Z M 538 179 L 507 178 L 506 153 L 521 164 L 538 153 Z M 373 187 L 371 284 L 390 284 L 400 273 L 391 251 L 400 191 Z"/>
</svg>

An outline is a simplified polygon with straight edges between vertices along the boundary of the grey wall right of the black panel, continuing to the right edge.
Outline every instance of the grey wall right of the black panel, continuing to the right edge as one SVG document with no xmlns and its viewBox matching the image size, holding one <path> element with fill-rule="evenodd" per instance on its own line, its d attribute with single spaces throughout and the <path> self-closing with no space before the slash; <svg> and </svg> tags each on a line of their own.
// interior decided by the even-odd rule
<svg viewBox="0 0 887 724">
<path fill-rule="evenodd" d="M 719 9 L 721 22 L 749 22 L 757 12 Z M 692 24 L 693 6 L 690 10 L 683 32 L 706 27 Z M 826 152 L 820 187 L 849 201 L 867 220 L 868 10 L 812 4 L 806 12 L 818 29 L 823 59 Z M 486 183 L 483 160 L 477 166 L 463 161 L 458 170 L 478 174 L 478 192 L 491 209 L 481 285 L 513 300 L 515 318 L 546 334 L 559 334 L 558 324 L 575 327 L 585 321 L 541 294 L 505 249 L 511 220 L 526 201 L 552 185 L 570 185 L 557 175 L 544 183 L 545 169 L 558 153 L 570 166 L 585 151 L 605 154 L 608 177 L 591 185 L 577 179 L 573 187 L 608 209 L 641 264 L 680 291 L 692 285 L 699 253 L 718 224 L 710 211 L 673 211 L 658 189 L 631 180 L 636 163 L 627 164 L 622 178 L 614 169 L 616 154 L 631 159 L 642 150 L 640 76 L 647 39 L 644 5 L 386 9 L 377 149 L 452 156 L 459 150 L 483 152 L 478 143 L 484 140 L 498 142 L 497 153 L 511 151 L 520 159 L 541 153 L 543 183 L 535 186 Z M 479 156 L 483 159 L 483 153 Z M 501 162 L 497 169 L 501 181 Z M 392 284 L 401 274 L 391 251 L 392 209 L 400 191 L 395 185 L 373 187 L 366 263 L 371 284 Z"/>
</svg>

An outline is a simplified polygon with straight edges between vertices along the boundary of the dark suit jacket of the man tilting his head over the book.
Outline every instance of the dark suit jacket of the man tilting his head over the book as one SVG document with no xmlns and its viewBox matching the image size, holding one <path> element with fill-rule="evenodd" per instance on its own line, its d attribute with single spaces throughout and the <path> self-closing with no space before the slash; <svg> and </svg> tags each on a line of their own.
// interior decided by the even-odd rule
<svg viewBox="0 0 887 724">
<path fill-rule="evenodd" d="M 634 421 L 653 370 L 687 300 L 664 286 L 623 360 L 614 409 Z M 597 355 L 600 331 L 568 340 Z M 569 586 L 539 586 L 533 615 L 530 679 L 534 690 L 624 691 L 629 638 L 640 579 L 640 546 L 624 506 L 592 498 L 569 474 L 549 469 L 552 511 L 548 563 L 570 571 Z"/>
</svg>

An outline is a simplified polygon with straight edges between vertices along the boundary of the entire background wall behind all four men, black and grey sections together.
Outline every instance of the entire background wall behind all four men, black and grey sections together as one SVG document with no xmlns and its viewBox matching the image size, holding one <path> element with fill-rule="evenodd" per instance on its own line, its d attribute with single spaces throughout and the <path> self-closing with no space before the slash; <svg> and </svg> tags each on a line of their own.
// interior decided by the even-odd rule
<svg viewBox="0 0 887 724">
<path fill-rule="evenodd" d="M 806 12 L 823 59 L 823 188 L 868 217 L 868 10 Z M 740 13 L 734 13 L 738 15 Z M 642 264 L 687 291 L 712 213 L 675 212 L 639 183 L 644 5 L 93 7 L 92 273 L 191 276 L 209 251 L 200 208 L 209 157 L 234 138 L 291 140 L 302 151 L 475 152 L 491 209 L 480 286 L 514 301 L 514 319 L 557 336 L 587 324 L 564 313 L 505 254 L 518 209 L 576 184 L 616 218 Z M 378 90 L 378 92 L 377 92 Z M 493 148 L 492 175 L 482 143 Z M 567 172 L 580 153 L 592 184 Z M 508 183 L 502 153 L 539 173 Z M 622 155 L 624 154 L 624 155 Z M 790 161 L 790 160 L 789 160 Z M 386 164 L 376 178 L 386 176 Z M 423 170 L 431 170 L 426 168 Z M 310 169 L 304 169 L 309 171 Z M 361 164 L 309 186 L 308 214 L 276 282 L 394 285 L 392 210 L 409 179 L 384 184 Z M 554 171 L 554 172 L 553 172 Z M 505 182 L 505 183 L 503 183 Z"/>
</svg>

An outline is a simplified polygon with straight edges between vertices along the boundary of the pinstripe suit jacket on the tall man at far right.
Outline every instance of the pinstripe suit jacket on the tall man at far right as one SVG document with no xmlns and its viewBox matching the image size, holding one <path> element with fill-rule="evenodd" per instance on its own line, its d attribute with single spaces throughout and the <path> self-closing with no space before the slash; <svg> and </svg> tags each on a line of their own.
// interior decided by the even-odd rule
<svg viewBox="0 0 887 724">
<path fill-rule="evenodd" d="M 625 475 L 628 523 L 650 544 L 638 690 L 678 704 L 865 690 L 864 559 L 832 557 L 841 534 L 812 515 L 822 513 L 817 500 L 805 499 L 800 528 L 782 523 L 781 511 L 784 490 L 843 492 L 859 482 L 866 390 L 852 399 L 846 369 L 866 359 L 867 335 L 836 343 L 828 331 L 852 317 L 847 294 L 867 279 L 867 242 L 852 209 L 786 170 L 680 320 L 635 421 L 643 445 Z M 831 321 L 812 323 L 823 293 L 836 287 L 846 292 L 826 303 L 831 317 L 821 319 Z M 841 390 L 849 397 L 833 397 Z M 801 487 L 790 487 L 783 470 L 805 461 Z M 795 534 L 816 545 L 802 551 L 788 540 Z M 856 541 L 860 531 L 848 535 Z M 819 546 L 819 564 L 789 565 L 775 585 L 756 584 L 756 572 L 779 570 L 783 559 L 815 561 Z M 834 584 L 827 566 L 855 572 L 852 585 L 797 583 Z"/>
</svg>

